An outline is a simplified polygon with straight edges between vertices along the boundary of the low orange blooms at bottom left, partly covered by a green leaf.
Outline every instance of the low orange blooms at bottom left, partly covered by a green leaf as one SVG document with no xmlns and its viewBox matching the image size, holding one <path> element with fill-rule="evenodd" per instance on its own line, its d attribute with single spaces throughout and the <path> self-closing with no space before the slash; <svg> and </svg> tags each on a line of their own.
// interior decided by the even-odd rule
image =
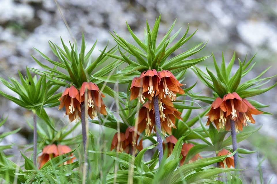
<svg viewBox="0 0 277 184">
<path fill-rule="evenodd" d="M 68 147 L 66 145 L 58 144 L 58 146 L 57 146 L 56 144 L 49 144 L 49 145 L 45 146 L 42 149 L 42 155 L 39 156 L 40 161 L 39 161 L 38 168 L 40 169 L 50 159 L 57 157 L 59 155 L 63 155 L 65 153 L 69 153 L 70 151 L 71 151 L 70 147 Z M 73 156 L 73 154 L 71 154 L 71 156 Z M 67 160 L 64 164 L 70 164 L 73 162 L 74 159 L 75 159 L 75 157 Z"/>
</svg>

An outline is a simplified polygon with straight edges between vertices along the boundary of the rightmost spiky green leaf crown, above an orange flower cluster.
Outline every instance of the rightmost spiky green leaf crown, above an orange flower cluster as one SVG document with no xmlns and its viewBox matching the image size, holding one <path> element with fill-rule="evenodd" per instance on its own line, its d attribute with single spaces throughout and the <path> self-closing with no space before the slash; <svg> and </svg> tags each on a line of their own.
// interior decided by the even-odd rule
<svg viewBox="0 0 277 184">
<path fill-rule="evenodd" d="M 246 57 L 244 58 L 244 61 L 241 62 L 239 59 L 239 69 L 237 70 L 237 72 L 231 76 L 231 69 L 233 67 L 233 64 L 235 62 L 235 57 L 236 54 L 234 52 L 233 57 L 231 59 L 231 61 L 229 62 L 229 64 L 225 65 L 225 60 L 224 60 L 224 55 L 222 52 L 222 62 L 221 62 L 221 68 L 219 68 L 219 66 L 217 65 L 216 59 L 214 57 L 214 54 L 212 54 L 213 56 L 213 60 L 214 60 L 214 67 L 216 69 L 216 74 L 217 76 L 215 76 L 213 74 L 213 72 L 211 72 L 210 70 L 207 70 L 207 74 L 205 74 L 204 72 L 202 72 L 198 67 L 194 66 L 192 68 L 192 71 L 198 76 L 198 78 L 209 88 L 211 88 L 214 92 L 216 92 L 216 94 L 219 97 L 223 97 L 225 94 L 227 93 L 233 93 L 236 92 L 239 94 L 240 97 L 242 98 L 246 98 L 246 97 L 251 97 L 251 96 L 255 96 L 255 95 L 259 95 L 261 93 L 265 93 L 266 91 L 268 91 L 269 89 L 272 89 L 273 87 L 275 87 L 277 85 L 277 83 L 275 83 L 274 85 L 267 87 L 267 88 L 260 88 L 261 86 L 265 85 L 267 82 L 269 82 L 268 80 L 270 80 L 271 78 L 276 77 L 277 75 L 271 76 L 271 77 L 267 77 L 267 78 L 261 78 L 261 76 L 267 71 L 269 70 L 270 67 L 268 67 L 266 70 L 264 70 L 263 72 L 261 72 L 261 74 L 259 74 L 257 77 L 248 80 L 246 82 L 240 83 L 241 82 L 241 78 L 243 76 L 245 76 L 248 72 L 250 72 L 250 70 L 253 68 L 253 66 L 255 65 L 252 64 L 250 67 L 248 67 L 255 55 L 246 62 Z M 266 81 L 266 82 L 264 82 Z M 211 83 L 212 82 L 212 83 Z M 203 99 L 204 101 L 205 99 Z"/>
</svg>

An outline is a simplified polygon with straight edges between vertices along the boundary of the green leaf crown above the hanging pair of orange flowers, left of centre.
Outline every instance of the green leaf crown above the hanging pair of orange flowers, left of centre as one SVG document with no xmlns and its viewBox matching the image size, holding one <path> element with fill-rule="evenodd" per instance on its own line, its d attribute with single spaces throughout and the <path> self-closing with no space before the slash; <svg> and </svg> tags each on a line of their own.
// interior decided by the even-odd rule
<svg viewBox="0 0 277 184">
<path fill-rule="evenodd" d="M 96 41 L 97 42 L 97 41 Z M 91 59 L 91 53 L 93 49 L 96 46 L 96 42 L 93 44 L 93 46 L 90 48 L 90 50 L 85 54 L 85 37 L 82 34 L 82 44 L 81 44 L 81 50 L 78 52 L 77 45 L 74 43 L 69 42 L 70 48 L 65 45 L 61 38 L 61 43 L 63 45 L 63 48 L 59 47 L 57 44 L 54 44 L 53 42 L 49 41 L 49 46 L 53 52 L 53 54 L 58 58 L 58 61 L 53 61 L 49 57 L 47 57 L 45 54 L 40 52 L 39 50 L 35 49 L 42 58 L 46 59 L 51 64 L 55 65 L 54 68 L 50 68 L 47 65 L 42 64 L 38 59 L 33 57 L 33 59 L 40 65 L 42 68 L 48 71 L 40 71 L 35 68 L 31 68 L 33 72 L 39 75 L 46 75 L 46 78 L 50 81 L 52 81 L 54 84 L 69 87 L 70 84 L 74 84 L 77 88 L 80 88 L 83 82 L 92 81 L 94 83 L 98 83 L 96 79 L 93 79 L 92 75 L 94 77 L 103 77 L 110 73 L 113 68 L 118 67 L 122 61 L 119 61 L 118 59 L 113 61 L 112 63 L 106 65 L 105 67 L 102 67 L 97 72 L 93 73 L 93 70 L 96 67 L 99 67 L 101 64 L 103 64 L 107 59 L 108 56 L 104 55 L 106 52 L 107 46 L 104 48 L 104 50 L 101 52 L 98 58 L 96 58 L 94 61 Z M 116 52 L 115 47 L 111 48 L 107 51 L 109 54 L 113 54 Z M 59 68 L 59 70 L 57 69 Z M 67 73 L 61 72 L 61 70 L 65 70 Z M 57 80 L 62 79 L 61 80 Z M 65 81 L 67 82 L 65 82 Z"/>
</svg>

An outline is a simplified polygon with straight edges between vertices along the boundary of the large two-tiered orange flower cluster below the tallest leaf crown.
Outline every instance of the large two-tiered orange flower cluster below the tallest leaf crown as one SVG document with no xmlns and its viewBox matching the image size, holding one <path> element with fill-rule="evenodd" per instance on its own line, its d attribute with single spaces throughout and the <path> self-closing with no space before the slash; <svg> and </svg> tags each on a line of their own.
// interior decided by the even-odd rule
<svg viewBox="0 0 277 184">
<path fill-rule="evenodd" d="M 152 97 L 157 96 L 162 134 L 171 134 L 171 128 L 176 128 L 175 117 L 181 119 L 181 112 L 175 109 L 172 103 L 177 93 L 184 94 L 180 86 L 182 84 L 168 70 L 159 72 L 155 69 L 147 70 L 132 80 L 130 100 L 139 97 L 139 102 L 144 104 L 139 111 L 138 129 L 140 132 L 145 130 L 146 136 L 149 136 L 153 129 L 156 132 Z M 146 98 L 147 102 L 145 102 Z"/>
</svg>

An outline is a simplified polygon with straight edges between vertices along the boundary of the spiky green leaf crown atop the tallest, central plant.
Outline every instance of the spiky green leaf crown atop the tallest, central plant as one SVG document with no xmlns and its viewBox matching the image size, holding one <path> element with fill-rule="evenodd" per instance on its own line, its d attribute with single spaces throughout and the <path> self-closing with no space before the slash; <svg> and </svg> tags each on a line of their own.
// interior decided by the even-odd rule
<svg viewBox="0 0 277 184">
<path fill-rule="evenodd" d="M 205 45 L 203 45 L 203 42 L 186 50 L 185 52 L 182 52 L 181 54 L 168 59 L 169 56 L 173 52 L 175 52 L 177 49 L 181 48 L 190 38 L 196 33 L 192 33 L 190 36 L 186 37 L 189 31 L 189 26 L 185 32 L 185 34 L 176 41 L 173 46 L 169 46 L 175 38 L 178 36 L 181 29 L 179 29 L 175 34 L 170 36 L 173 27 L 175 25 L 175 21 L 173 22 L 172 26 L 168 30 L 168 32 L 164 35 L 162 40 L 159 44 L 156 43 L 157 37 L 158 37 L 158 30 L 160 25 L 161 15 L 156 18 L 156 21 L 154 23 L 153 29 L 150 30 L 149 24 L 146 21 L 147 29 L 145 29 L 144 34 L 144 41 L 141 41 L 132 31 L 130 26 L 127 24 L 127 28 L 133 37 L 136 44 L 139 46 L 135 46 L 125 40 L 123 37 L 119 36 L 115 31 L 113 36 L 113 39 L 117 42 L 118 50 L 120 53 L 120 56 L 106 52 L 105 55 L 109 57 L 113 57 L 115 59 L 119 59 L 120 61 L 123 61 L 128 64 L 123 70 L 120 70 L 118 74 L 114 74 L 109 77 L 109 79 L 102 77 L 102 78 L 96 78 L 98 80 L 106 81 L 108 82 L 119 82 L 119 83 L 126 83 L 130 82 L 134 78 L 134 76 L 138 76 L 140 72 L 143 72 L 148 69 L 156 69 L 156 70 L 170 70 L 173 74 L 178 72 L 183 72 L 187 68 L 196 65 L 197 63 L 200 63 L 207 59 L 209 56 L 206 57 L 200 57 L 197 59 L 187 59 L 188 57 L 196 54 L 200 50 L 202 50 Z M 121 49 L 124 50 L 124 52 L 121 51 Z M 125 52 L 128 53 L 128 55 L 125 55 Z M 130 55 L 134 57 L 135 60 L 130 59 Z M 136 72 L 138 71 L 138 72 Z M 184 73 L 182 73 L 184 75 Z M 119 77 L 121 76 L 121 77 Z"/>
</svg>

